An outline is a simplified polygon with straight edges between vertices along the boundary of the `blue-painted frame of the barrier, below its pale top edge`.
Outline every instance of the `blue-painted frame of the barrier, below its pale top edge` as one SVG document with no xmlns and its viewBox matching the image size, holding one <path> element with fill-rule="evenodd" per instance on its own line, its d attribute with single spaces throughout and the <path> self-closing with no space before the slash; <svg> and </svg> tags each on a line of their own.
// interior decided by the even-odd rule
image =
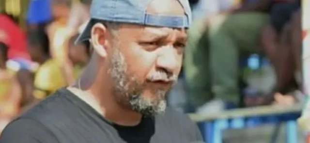
<svg viewBox="0 0 310 143">
<path fill-rule="evenodd" d="M 296 119 L 300 112 L 275 114 L 268 116 L 236 117 L 231 119 L 218 119 L 198 123 L 204 140 L 207 143 L 222 143 L 222 131 L 225 129 L 238 129 L 245 127 L 257 127 L 266 124 L 285 123 L 286 143 L 298 143 Z"/>
</svg>

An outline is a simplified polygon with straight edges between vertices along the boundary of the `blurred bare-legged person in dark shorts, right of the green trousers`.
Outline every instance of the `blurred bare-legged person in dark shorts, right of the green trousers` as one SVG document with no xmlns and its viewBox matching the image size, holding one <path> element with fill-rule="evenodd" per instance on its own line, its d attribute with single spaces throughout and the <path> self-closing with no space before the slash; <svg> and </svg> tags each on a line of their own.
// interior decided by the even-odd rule
<svg viewBox="0 0 310 143">
<path fill-rule="evenodd" d="M 271 12 L 271 21 L 262 31 L 262 46 L 274 65 L 278 103 L 300 101 L 295 90 L 301 90 L 301 18 L 300 1 L 280 3 Z M 283 96 L 283 95 L 289 96 Z M 293 104 L 294 102 L 290 102 Z"/>
</svg>

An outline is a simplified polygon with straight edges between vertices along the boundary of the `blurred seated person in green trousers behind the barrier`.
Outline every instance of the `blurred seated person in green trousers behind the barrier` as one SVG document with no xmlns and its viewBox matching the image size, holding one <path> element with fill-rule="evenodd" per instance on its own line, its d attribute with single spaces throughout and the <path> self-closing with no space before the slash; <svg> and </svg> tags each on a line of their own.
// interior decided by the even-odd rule
<svg viewBox="0 0 310 143">
<path fill-rule="evenodd" d="M 184 60 L 188 97 L 202 112 L 223 111 L 244 102 L 240 101 L 239 58 L 264 52 L 260 36 L 271 9 L 287 0 L 242 2 L 236 10 L 197 20 L 188 31 Z M 245 100 L 246 106 L 272 101 L 273 95 Z"/>
</svg>

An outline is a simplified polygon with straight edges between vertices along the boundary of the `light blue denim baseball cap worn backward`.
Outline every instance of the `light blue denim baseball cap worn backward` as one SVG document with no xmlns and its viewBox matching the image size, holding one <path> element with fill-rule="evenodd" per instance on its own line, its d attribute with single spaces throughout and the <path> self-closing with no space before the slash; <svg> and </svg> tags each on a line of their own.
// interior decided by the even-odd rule
<svg viewBox="0 0 310 143">
<path fill-rule="evenodd" d="M 191 23 L 191 10 L 188 0 L 177 0 L 182 5 L 185 15 L 169 16 L 146 13 L 147 6 L 153 0 L 93 0 L 90 8 L 91 19 L 80 32 L 75 43 L 91 38 L 94 19 L 135 23 L 140 25 L 188 28 Z"/>
</svg>

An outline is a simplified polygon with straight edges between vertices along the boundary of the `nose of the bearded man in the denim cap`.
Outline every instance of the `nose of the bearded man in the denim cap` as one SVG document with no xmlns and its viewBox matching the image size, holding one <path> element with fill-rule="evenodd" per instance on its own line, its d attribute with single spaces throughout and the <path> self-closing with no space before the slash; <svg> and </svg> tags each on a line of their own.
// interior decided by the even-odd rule
<svg viewBox="0 0 310 143">
<path fill-rule="evenodd" d="M 174 72 L 178 67 L 178 61 L 173 46 L 167 46 L 161 49 L 156 66 L 157 68 L 167 70 L 171 74 Z"/>
</svg>

